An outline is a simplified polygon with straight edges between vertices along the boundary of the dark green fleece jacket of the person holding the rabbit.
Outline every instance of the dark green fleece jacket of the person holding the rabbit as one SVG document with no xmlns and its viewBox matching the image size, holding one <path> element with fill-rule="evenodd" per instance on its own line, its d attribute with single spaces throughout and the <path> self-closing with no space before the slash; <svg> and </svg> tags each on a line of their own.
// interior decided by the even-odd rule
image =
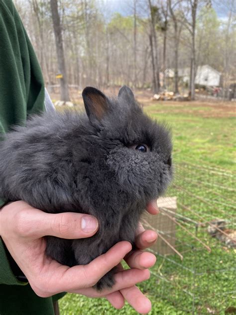
<svg viewBox="0 0 236 315">
<path fill-rule="evenodd" d="M 0 0 L 0 135 L 44 110 L 43 77 L 32 45 L 12 1 Z M 0 199 L 0 207 L 5 201 Z M 0 315 L 53 315 L 59 296 L 36 296 L 16 278 L 13 265 L 0 238 Z"/>
</svg>

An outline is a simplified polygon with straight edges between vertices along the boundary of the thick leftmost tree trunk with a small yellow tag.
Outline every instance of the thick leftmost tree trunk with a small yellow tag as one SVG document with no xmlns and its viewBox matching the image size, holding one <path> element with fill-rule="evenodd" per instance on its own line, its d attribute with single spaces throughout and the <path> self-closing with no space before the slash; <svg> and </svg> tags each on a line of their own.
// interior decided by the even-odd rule
<svg viewBox="0 0 236 315">
<path fill-rule="evenodd" d="M 61 30 L 60 16 L 58 13 L 57 0 L 50 0 L 50 6 L 51 6 L 51 12 L 52 12 L 53 29 L 54 29 L 55 40 L 56 40 L 58 70 L 59 70 L 59 74 L 62 75 L 62 78 L 60 78 L 61 100 L 64 102 L 67 102 L 70 100 L 70 98 L 69 98 L 69 90 L 68 90 L 68 84 L 67 84 L 65 57 L 64 57 L 64 49 L 63 49 L 63 42 L 62 42 L 62 30 Z"/>
</svg>

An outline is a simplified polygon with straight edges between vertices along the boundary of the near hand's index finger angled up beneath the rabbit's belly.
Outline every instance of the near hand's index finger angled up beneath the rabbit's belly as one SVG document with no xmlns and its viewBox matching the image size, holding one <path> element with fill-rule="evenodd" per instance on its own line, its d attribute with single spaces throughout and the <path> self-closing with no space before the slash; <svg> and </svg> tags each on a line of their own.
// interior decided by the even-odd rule
<svg viewBox="0 0 236 315">
<path fill-rule="evenodd" d="M 107 253 L 97 257 L 84 266 L 75 266 L 66 270 L 57 281 L 58 292 L 73 292 L 79 288 L 94 286 L 106 273 L 118 265 L 131 250 L 131 244 L 123 241 L 114 245 Z M 116 290 L 117 291 L 117 290 Z M 107 292 L 109 294 L 111 292 Z"/>
</svg>

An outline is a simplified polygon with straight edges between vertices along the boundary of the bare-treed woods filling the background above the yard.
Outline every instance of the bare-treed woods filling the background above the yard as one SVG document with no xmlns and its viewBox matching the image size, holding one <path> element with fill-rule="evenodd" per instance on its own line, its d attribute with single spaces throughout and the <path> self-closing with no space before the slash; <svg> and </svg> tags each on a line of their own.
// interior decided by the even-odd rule
<svg viewBox="0 0 236 315">
<path fill-rule="evenodd" d="M 195 97 L 197 67 L 208 64 L 222 74 L 222 86 L 235 83 L 236 16 L 234 0 L 226 17 L 211 0 L 129 0 L 122 14 L 98 0 L 15 0 L 39 58 L 47 86 L 80 90 L 129 85 L 185 89 Z M 125 5 L 124 5 L 125 4 Z M 228 17 L 228 18 L 227 18 Z M 189 82 L 179 72 L 190 68 Z M 166 78 L 173 69 L 174 79 Z"/>
</svg>

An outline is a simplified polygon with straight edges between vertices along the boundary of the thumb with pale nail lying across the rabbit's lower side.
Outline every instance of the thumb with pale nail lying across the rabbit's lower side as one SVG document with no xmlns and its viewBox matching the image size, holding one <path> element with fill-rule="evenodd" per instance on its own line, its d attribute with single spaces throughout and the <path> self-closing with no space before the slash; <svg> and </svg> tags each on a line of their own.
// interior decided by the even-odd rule
<svg viewBox="0 0 236 315">
<path fill-rule="evenodd" d="M 66 239 L 86 238 L 98 230 L 95 217 L 73 212 L 51 214 L 28 208 L 20 211 L 16 221 L 20 236 L 32 239 L 46 235 Z"/>
</svg>

